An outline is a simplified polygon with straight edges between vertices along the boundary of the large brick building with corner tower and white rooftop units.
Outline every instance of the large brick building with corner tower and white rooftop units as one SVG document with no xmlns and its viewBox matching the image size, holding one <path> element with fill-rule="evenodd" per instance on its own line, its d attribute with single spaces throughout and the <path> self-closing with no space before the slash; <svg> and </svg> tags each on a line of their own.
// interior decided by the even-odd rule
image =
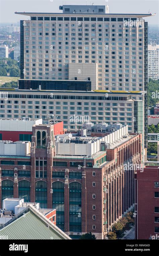
<svg viewBox="0 0 159 256">
<path fill-rule="evenodd" d="M 30 154 L 0 157 L 0 196 L 56 209 L 56 225 L 71 237 L 92 232 L 103 239 L 135 203 L 141 155 L 142 134 L 128 134 L 127 126 L 102 137 L 72 137 L 55 136 L 54 125 L 33 125 Z"/>
</svg>

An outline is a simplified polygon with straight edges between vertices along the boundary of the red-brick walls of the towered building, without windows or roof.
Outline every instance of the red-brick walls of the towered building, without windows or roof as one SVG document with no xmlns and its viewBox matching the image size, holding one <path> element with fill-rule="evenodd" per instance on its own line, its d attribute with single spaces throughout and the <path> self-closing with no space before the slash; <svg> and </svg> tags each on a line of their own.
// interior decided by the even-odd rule
<svg viewBox="0 0 159 256">
<path fill-rule="evenodd" d="M 20 180 L 31 182 L 31 202 L 35 202 L 35 184 L 37 181 L 47 183 L 47 208 L 52 209 L 52 183 L 61 181 L 64 183 L 64 231 L 69 232 L 69 185 L 77 182 L 82 185 L 81 188 L 81 232 L 71 232 L 75 235 L 86 232 L 92 232 L 98 239 L 103 239 L 109 231 L 111 225 L 118 220 L 126 211 L 129 211 L 135 203 L 134 175 L 136 164 L 141 161 L 142 154 L 142 135 L 131 136 L 126 142 L 121 142 L 120 146 L 108 149 L 105 152 L 107 162 L 102 167 L 86 167 L 87 162 L 92 162 L 92 166 L 100 158 L 87 160 L 86 166 L 70 167 L 70 162 L 84 162 L 83 159 L 55 158 L 56 148 L 54 147 L 54 138 L 52 138 L 53 125 L 33 126 L 32 147 L 31 147 L 31 166 L 26 166 L 26 170 L 31 171 L 31 177 L 18 177 L 15 180 L 12 177 L 1 177 L 1 182 L 6 179 L 14 181 L 13 197 L 18 198 L 18 183 Z M 46 131 L 46 149 L 36 148 L 37 131 Z M 6 158 L 0 158 L 0 160 Z M 47 166 L 40 166 L 40 170 L 47 171 L 47 178 L 36 178 L 36 160 L 47 161 Z M 7 158 L 12 160 L 15 165 L 0 165 L 1 170 L 13 170 L 15 173 L 22 170 L 22 166 L 17 165 L 17 158 Z M 26 159 L 20 159 L 21 161 Z M 65 167 L 53 166 L 53 161 L 67 161 Z M 129 162 L 133 168 L 125 168 L 124 165 Z M 0 170 L 0 173 L 1 173 Z M 64 177 L 52 178 L 52 171 L 64 172 Z M 69 172 L 81 172 L 80 179 L 69 178 Z M 51 192 L 52 191 L 52 192 Z M 1 189 L 0 189 L 1 193 Z M 95 195 L 95 198 L 94 198 Z M 1 202 L 0 202 L 1 203 Z M 57 213 L 56 213 L 57 214 Z"/>
</svg>

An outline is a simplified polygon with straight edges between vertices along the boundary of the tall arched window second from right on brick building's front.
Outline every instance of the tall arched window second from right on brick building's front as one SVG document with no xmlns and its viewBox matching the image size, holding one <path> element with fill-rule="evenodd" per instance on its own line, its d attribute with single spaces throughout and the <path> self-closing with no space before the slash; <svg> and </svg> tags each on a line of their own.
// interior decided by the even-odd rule
<svg viewBox="0 0 159 256">
<path fill-rule="evenodd" d="M 56 209 L 56 225 L 64 231 L 64 183 L 52 183 L 52 208 Z"/>
</svg>

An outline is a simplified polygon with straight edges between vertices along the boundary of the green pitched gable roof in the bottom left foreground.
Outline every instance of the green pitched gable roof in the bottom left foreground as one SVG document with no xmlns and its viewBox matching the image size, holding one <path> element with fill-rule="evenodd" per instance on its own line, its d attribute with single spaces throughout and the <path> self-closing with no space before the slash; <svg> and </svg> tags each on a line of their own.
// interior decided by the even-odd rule
<svg viewBox="0 0 159 256">
<path fill-rule="evenodd" d="M 45 217 L 43 217 L 45 218 Z M 70 239 L 50 221 L 41 218 L 32 211 L 21 215 L 0 230 L 0 236 L 6 239 Z M 48 225 L 47 225 L 48 223 Z"/>
</svg>

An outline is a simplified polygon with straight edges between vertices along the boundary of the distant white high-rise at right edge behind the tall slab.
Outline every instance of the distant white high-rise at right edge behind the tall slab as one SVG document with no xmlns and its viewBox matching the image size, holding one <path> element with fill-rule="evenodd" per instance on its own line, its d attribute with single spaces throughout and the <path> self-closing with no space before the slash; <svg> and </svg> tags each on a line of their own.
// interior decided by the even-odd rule
<svg viewBox="0 0 159 256">
<path fill-rule="evenodd" d="M 159 44 L 148 44 L 148 76 L 153 80 L 159 79 Z"/>
</svg>

